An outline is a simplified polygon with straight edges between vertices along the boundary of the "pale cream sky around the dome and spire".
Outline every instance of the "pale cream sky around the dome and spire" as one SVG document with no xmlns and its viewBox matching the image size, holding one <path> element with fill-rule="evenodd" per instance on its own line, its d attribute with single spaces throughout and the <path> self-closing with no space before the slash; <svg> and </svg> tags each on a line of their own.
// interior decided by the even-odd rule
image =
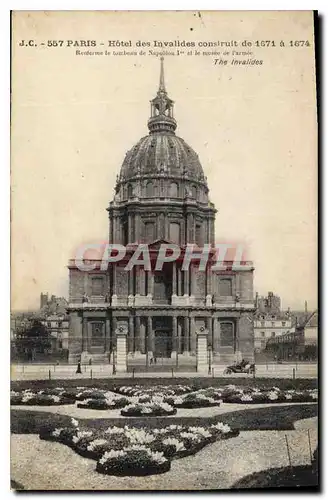
<svg viewBox="0 0 328 500">
<path fill-rule="evenodd" d="M 33 40 L 37 46 L 19 46 Z M 48 47 L 48 40 L 63 40 Z M 97 47 L 67 47 L 95 40 Z M 159 52 L 113 55 L 108 40 L 189 41 L 165 56 L 177 135 L 199 155 L 216 240 L 254 261 L 254 291 L 284 308 L 317 305 L 317 116 L 310 12 L 16 12 L 12 48 L 12 309 L 68 296 L 68 259 L 108 234 L 106 207 L 125 153 L 148 134 Z M 256 41 L 274 46 L 256 47 Z M 284 40 L 285 46 L 280 46 Z M 310 46 L 290 41 L 309 40 Z M 232 49 L 201 43 L 237 41 Z M 252 47 L 242 42 L 250 41 Z M 99 43 L 105 43 L 99 46 Z M 45 43 L 45 45 L 41 45 Z M 111 55 L 76 55 L 76 50 Z M 174 49 L 167 49 L 175 51 Z M 202 51 L 220 51 L 203 55 Z M 223 54 L 224 50 L 230 52 Z M 232 50 L 252 52 L 232 54 Z M 185 51 L 187 52 L 187 51 Z M 157 55 L 155 55 L 157 54 Z M 227 65 L 215 59 L 227 59 Z M 258 65 L 232 65 L 232 59 Z"/>
</svg>

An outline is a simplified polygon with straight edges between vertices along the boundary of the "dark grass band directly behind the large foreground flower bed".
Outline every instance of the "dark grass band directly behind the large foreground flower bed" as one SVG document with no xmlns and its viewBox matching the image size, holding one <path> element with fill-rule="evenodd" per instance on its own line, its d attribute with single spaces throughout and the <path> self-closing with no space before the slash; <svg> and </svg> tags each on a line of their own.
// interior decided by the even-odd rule
<svg viewBox="0 0 328 500">
<path fill-rule="evenodd" d="M 232 411 L 215 417 L 140 417 L 79 419 L 81 428 L 106 429 L 116 425 L 123 427 L 161 428 L 171 424 L 207 426 L 217 421 L 230 425 L 232 429 L 249 430 L 292 430 L 294 422 L 317 416 L 317 404 L 279 405 Z M 11 411 L 11 432 L 14 434 L 39 434 L 45 427 L 71 427 L 71 417 L 56 413 L 34 410 Z"/>
</svg>

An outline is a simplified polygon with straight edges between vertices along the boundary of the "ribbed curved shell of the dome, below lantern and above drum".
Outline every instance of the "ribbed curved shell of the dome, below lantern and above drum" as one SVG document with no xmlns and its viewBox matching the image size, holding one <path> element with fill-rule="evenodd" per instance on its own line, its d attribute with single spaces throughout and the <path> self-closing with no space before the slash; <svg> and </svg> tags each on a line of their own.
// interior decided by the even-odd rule
<svg viewBox="0 0 328 500">
<path fill-rule="evenodd" d="M 183 139 L 165 131 L 150 133 L 128 151 L 120 181 L 125 182 L 139 175 L 152 177 L 160 174 L 206 182 L 195 151 Z"/>
</svg>

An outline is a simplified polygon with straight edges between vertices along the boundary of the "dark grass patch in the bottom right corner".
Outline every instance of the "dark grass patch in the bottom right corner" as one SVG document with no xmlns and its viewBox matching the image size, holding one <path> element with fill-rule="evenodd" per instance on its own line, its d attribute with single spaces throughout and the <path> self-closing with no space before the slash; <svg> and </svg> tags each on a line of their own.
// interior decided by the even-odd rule
<svg viewBox="0 0 328 500">
<path fill-rule="evenodd" d="M 318 473 L 311 465 L 279 467 L 254 472 L 234 483 L 231 489 L 304 487 L 319 488 Z"/>
</svg>

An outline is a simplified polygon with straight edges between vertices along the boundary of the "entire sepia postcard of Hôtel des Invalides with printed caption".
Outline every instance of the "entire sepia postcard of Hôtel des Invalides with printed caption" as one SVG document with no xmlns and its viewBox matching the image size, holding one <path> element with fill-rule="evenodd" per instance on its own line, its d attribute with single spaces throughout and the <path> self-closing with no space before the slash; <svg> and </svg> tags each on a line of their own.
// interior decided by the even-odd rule
<svg viewBox="0 0 328 500">
<path fill-rule="evenodd" d="M 12 488 L 318 488 L 316 13 L 11 23 Z"/>
</svg>

